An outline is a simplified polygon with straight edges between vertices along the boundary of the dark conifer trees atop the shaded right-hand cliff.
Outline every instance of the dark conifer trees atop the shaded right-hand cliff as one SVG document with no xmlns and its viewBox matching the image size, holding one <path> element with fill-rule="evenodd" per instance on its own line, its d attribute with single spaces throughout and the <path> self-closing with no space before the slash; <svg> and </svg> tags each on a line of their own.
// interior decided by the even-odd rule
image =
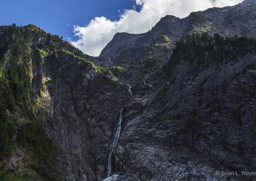
<svg viewBox="0 0 256 181">
<path fill-rule="evenodd" d="M 191 71 L 198 71 L 200 66 L 207 67 L 212 62 L 220 65 L 225 61 L 237 61 L 239 56 L 253 52 L 255 48 L 256 39 L 253 37 L 223 38 L 219 34 L 211 36 L 209 33 L 189 33 L 184 39 L 176 42 L 172 58 L 164 71 L 169 75 L 173 66 L 180 60 L 190 62 L 191 68 L 194 68 Z M 211 62 L 207 62 L 207 60 L 211 60 Z"/>
</svg>

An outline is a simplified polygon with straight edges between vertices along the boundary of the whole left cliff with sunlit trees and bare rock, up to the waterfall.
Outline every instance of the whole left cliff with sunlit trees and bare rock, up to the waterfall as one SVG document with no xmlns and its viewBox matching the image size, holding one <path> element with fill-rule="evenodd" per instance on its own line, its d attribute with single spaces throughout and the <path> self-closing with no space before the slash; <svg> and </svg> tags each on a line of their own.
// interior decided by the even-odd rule
<svg viewBox="0 0 256 181">
<path fill-rule="evenodd" d="M 33 25 L 1 32 L 1 179 L 106 177 L 126 87 L 58 36 Z"/>
</svg>

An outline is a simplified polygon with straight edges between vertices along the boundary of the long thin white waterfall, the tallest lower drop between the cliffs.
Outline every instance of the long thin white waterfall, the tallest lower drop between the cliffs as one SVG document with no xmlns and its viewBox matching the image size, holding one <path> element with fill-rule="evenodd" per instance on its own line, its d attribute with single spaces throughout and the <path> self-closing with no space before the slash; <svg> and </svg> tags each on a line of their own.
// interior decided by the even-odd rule
<svg viewBox="0 0 256 181">
<path fill-rule="evenodd" d="M 116 130 L 115 130 L 115 134 L 113 136 L 113 143 L 112 145 L 110 146 L 109 148 L 109 155 L 108 155 L 108 177 L 111 175 L 111 157 L 112 157 L 112 154 L 113 154 L 113 151 L 116 147 L 116 144 L 119 140 L 119 136 L 120 136 L 120 132 L 121 132 L 121 124 L 122 124 L 122 113 L 123 113 L 123 109 L 120 111 L 120 115 L 119 115 L 119 120 L 118 120 L 118 123 L 117 123 L 117 126 L 116 126 Z"/>
</svg>

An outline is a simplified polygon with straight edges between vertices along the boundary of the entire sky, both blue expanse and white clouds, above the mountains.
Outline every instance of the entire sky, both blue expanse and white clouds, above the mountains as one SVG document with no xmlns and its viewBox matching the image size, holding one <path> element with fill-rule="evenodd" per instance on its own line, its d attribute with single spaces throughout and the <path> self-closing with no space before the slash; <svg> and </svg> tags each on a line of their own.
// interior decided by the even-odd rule
<svg viewBox="0 0 256 181">
<path fill-rule="evenodd" d="M 1 0 L 0 25 L 34 24 L 97 56 L 118 32 L 145 33 L 161 17 L 243 0 Z M 119 11 L 118 11 L 119 10 Z"/>
</svg>

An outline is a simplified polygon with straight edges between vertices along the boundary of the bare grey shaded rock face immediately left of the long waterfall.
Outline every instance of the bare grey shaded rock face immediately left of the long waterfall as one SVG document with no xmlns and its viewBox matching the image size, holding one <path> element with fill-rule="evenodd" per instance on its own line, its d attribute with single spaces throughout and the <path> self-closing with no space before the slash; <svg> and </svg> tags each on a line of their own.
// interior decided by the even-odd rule
<svg viewBox="0 0 256 181">
<path fill-rule="evenodd" d="M 88 180 L 106 177 L 108 143 L 127 90 L 101 75 L 92 63 L 65 52 L 58 54 L 57 62 L 50 57 L 47 64 L 51 80 L 45 85 L 52 99 L 47 111 L 52 121 L 43 119 L 46 132 L 77 156 L 77 175 L 83 173 Z"/>
</svg>

